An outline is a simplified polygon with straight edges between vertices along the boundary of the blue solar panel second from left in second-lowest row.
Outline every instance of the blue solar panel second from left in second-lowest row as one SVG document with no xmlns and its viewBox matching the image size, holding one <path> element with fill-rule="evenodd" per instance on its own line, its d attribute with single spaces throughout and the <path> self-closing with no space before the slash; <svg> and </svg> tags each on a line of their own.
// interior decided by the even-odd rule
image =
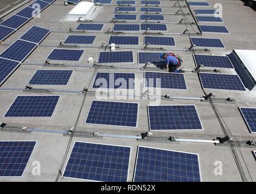
<svg viewBox="0 0 256 194">
<path fill-rule="evenodd" d="M 85 124 L 137 127 L 138 103 L 92 101 Z"/>
</svg>

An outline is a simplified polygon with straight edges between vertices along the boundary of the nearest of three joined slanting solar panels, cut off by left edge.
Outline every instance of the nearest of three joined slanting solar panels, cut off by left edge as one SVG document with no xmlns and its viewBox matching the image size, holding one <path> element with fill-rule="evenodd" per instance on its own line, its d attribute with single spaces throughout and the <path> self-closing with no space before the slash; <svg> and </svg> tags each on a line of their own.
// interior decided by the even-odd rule
<svg viewBox="0 0 256 194">
<path fill-rule="evenodd" d="M 0 58 L 0 85 L 18 67 L 19 62 Z"/>
</svg>

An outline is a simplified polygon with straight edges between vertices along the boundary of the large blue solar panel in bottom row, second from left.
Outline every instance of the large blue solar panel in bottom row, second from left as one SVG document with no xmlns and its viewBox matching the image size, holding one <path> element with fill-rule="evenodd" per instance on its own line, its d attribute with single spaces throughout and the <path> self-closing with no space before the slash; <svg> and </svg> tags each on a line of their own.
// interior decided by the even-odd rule
<svg viewBox="0 0 256 194">
<path fill-rule="evenodd" d="M 75 141 L 63 177 L 126 182 L 130 147 Z"/>
</svg>

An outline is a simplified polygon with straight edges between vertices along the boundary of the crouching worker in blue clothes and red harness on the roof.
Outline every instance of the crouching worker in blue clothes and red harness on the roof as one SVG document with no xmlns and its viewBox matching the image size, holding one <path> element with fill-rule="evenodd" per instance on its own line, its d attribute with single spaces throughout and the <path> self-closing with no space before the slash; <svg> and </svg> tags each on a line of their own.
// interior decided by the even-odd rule
<svg viewBox="0 0 256 194">
<path fill-rule="evenodd" d="M 181 66 L 181 62 L 183 62 L 180 56 L 174 53 L 161 53 L 161 59 L 166 60 L 166 66 L 164 69 L 169 69 L 169 72 L 181 73 L 182 70 L 178 69 Z"/>
</svg>

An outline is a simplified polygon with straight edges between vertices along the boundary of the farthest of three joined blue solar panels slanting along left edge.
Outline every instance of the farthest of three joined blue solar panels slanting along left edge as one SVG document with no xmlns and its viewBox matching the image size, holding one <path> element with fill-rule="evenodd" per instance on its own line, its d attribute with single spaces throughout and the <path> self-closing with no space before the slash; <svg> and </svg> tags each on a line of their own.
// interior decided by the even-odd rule
<svg viewBox="0 0 256 194">
<path fill-rule="evenodd" d="M 39 42 L 41 42 L 47 35 L 49 35 L 49 33 L 50 30 L 34 25 L 26 33 L 24 33 L 24 35 L 22 35 L 20 39 L 39 44 Z"/>
</svg>

